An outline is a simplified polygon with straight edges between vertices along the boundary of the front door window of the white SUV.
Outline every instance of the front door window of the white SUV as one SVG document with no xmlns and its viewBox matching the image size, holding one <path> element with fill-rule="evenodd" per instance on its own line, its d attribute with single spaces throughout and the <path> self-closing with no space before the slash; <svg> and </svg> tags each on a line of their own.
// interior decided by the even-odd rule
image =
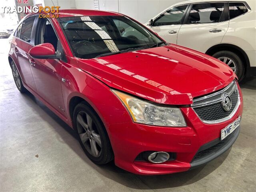
<svg viewBox="0 0 256 192">
<path fill-rule="evenodd" d="M 187 5 L 171 8 L 155 20 L 154 26 L 182 24 L 186 8 Z"/>
</svg>

